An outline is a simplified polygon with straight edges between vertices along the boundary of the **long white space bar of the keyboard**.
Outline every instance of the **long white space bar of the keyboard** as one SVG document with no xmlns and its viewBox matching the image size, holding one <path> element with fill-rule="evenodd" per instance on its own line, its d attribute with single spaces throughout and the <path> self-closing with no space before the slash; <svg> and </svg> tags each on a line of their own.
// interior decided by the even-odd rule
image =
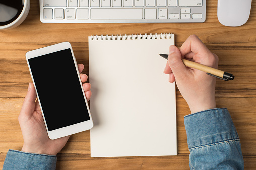
<svg viewBox="0 0 256 170">
<path fill-rule="evenodd" d="M 91 9 L 91 19 L 142 19 L 143 9 Z"/>
</svg>

